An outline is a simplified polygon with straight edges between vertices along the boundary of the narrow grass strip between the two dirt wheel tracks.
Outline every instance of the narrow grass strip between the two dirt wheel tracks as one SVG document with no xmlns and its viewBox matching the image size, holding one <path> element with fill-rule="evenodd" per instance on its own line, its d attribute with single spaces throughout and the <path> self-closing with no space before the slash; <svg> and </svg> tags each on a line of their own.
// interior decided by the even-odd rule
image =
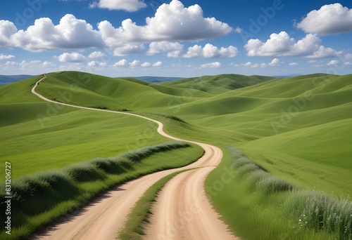
<svg viewBox="0 0 352 240">
<path fill-rule="evenodd" d="M 190 171 L 187 169 L 184 171 L 178 171 L 176 173 L 171 173 L 170 175 L 161 178 L 158 182 L 154 183 L 148 190 L 143 194 L 143 196 L 137 201 L 134 208 L 132 209 L 128 219 L 125 223 L 125 227 L 118 234 L 118 239 L 122 240 L 140 240 L 142 239 L 144 233 L 144 223 L 149 222 L 149 216 L 151 213 L 151 206 L 156 201 L 158 193 L 163 189 L 165 184 L 174 178 L 176 175 L 183 173 L 185 171 Z"/>
</svg>

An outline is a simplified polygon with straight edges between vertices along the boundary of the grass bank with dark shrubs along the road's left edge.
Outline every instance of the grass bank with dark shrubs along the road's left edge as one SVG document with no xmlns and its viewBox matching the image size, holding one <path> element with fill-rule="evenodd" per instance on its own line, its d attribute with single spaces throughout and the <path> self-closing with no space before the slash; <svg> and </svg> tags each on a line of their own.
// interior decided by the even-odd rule
<svg viewBox="0 0 352 240">
<path fill-rule="evenodd" d="M 24 175 L 13 180 L 11 239 L 27 237 L 36 229 L 87 203 L 109 188 L 142 175 L 191 164 L 203 149 L 186 142 L 167 142 L 110 158 L 72 164 L 58 171 Z M 4 199 L 5 187 L 0 185 Z M 0 204 L 5 212 L 5 204 Z M 1 222 L 5 222 L 2 215 Z M 8 235 L 1 224 L 1 239 Z"/>
</svg>

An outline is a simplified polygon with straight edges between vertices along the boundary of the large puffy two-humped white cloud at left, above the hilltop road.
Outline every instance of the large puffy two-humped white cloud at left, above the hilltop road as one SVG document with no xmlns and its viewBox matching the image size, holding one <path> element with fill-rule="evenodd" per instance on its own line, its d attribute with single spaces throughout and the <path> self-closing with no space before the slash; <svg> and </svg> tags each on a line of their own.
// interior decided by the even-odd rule
<svg viewBox="0 0 352 240">
<path fill-rule="evenodd" d="M 50 18 L 39 18 L 27 30 L 12 34 L 11 43 L 34 52 L 103 46 L 99 32 L 85 20 L 71 14 L 63 16 L 58 25 L 54 25 Z"/>
</svg>

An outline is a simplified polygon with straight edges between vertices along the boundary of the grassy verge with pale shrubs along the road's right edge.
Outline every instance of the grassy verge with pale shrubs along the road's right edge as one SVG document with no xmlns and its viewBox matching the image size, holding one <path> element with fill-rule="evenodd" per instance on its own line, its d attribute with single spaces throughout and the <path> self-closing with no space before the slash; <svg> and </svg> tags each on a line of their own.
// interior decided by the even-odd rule
<svg viewBox="0 0 352 240">
<path fill-rule="evenodd" d="M 206 189 L 241 239 L 352 239 L 350 199 L 295 187 L 233 147 L 225 147 L 224 156 Z"/>
</svg>

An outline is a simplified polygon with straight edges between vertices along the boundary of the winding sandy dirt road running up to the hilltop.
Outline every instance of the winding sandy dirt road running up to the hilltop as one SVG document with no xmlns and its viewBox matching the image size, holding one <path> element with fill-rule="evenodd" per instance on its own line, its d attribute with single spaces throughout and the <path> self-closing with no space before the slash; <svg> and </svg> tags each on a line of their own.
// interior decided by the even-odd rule
<svg viewBox="0 0 352 240">
<path fill-rule="evenodd" d="M 35 91 L 39 82 L 45 78 L 44 75 L 32 88 L 32 93 L 42 100 L 80 109 L 138 116 L 158 124 L 158 133 L 166 138 L 182 140 L 165 133 L 160 121 L 145 116 L 80 107 L 45 98 Z M 146 239 L 237 239 L 227 231 L 225 223 L 218 218 L 218 214 L 206 198 L 203 187 L 208 173 L 220 164 L 222 151 L 213 145 L 182 141 L 201 146 L 205 153 L 198 161 L 183 168 L 146 175 L 111 189 L 78 213 L 65 218 L 62 223 L 34 236 L 34 239 L 115 239 L 124 226 L 128 213 L 146 189 L 170 173 L 190 168 L 196 169 L 180 173 L 172 178 L 161 191 L 154 206 L 154 217 L 151 225 L 148 226 Z"/>
</svg>

